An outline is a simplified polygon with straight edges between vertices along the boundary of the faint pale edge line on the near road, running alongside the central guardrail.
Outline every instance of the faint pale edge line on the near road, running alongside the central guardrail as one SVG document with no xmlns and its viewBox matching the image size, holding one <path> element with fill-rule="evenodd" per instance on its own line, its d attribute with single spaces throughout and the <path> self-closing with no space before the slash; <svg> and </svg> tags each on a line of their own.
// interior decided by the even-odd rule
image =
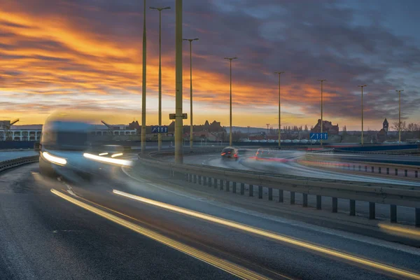
<svg viewBox="0 0 420 280">
<path fill-rule="evenodd" d="M 241 208 L 241 207 L 233 207 L 233 206 L 231 206 L 229 204 L 225 204 L 223 202 L 217 202 L 215 200 L 207 200 L 204 197 L 185 195 L 185 193 L 183 193 L 183 192 L 179 193 L 179 192 L 176 192 L 174 190 L 168 190 L 167 188 L 165 188 L 165 186 L 162 186 L 162 185 L 158 186 L 155 183 L 151 183 L 151 181 L 148 181 L 146 179 L 136 178 L 136 177 L 128 174 L 128 172 L 125 171 L 124 167 L 122 167 L 122 169 L 123 169 L 123 172 L 127 176 L 129 176 L 130 178 L 132 178 L 136 181 L 139 181 L 141 183 L 146 183 L 149 186 L 159 188 L 160 190 L 164 190 L 168 193 L 174 193 L 175 195 L 179 195 L 181 197 L 187 197 L 191 200 L 198 200 L 198 201 L 201 201 L 201 202 L 206 202 L 207 204 L 211 204 L 211 205 L 214 205 L 216 207 L 221 207 L 221 208 L 228 209 L 228 210 L 231 210 L 231 211 L 236 211 L 236 212 L 239 212 L 239 213 L 242 213 L 242 214 L 255 216 L 257 218 L 264 218 L 264 219 L 267 219 L 267 220 L 270 220 L 270 221 L 276 221 L 278 223 L 284 223 L 284 224 L 295 226 L 297 228 L 302 228 L 302 229 L 305 229 L 305 230 L 312 230 L 314 232 L 321 232 L 321 233 L 324 233 L 324 234 L 327 234 L 327 235 L 334 235 L 334 236 L 342 237 L 344 239 L 349 239 L 349 240 L 352 240 L 352 241 L 360 241 L 360 242 L 365 243 L 365 244 L 384 247 L 384 248 L 388 248 L 388 249 L 392 249 L 392 250 L 398 250 L 398 251 L 402 251 L 404 253 L 410 253 L 410 254 L 413 254 L 413 255 L 420 255 L 420 250 L 419 249 L 413 248 L 413 247 L 410 247 L 410 246 L 406 246 L 406 245 L 402 245 L 402 244 L 394 244 L 394 243 L 391 243 L 389 241 L 374 239 L 373 237 L 366 237 L 366 236 L 363 236 L 363 235 L 357 235 L 357 234 L 351 233 L 351 232 L 343 232 L 341 230 L 332 230 L 332 229 L 328 229 L 328 228 L 322 228 L 318 225 L 311 225 L 311 224 L 300 222 L 300 221 L 293 221 L 293 220 L 289 220 L 289 219 L 286 219 L 286 218 L 280 218 L 280 217 L 277 217 L 277 216 L 273 216 L 273 215 L 270 215 L 270 214 L 262 214 L 258 211 L 248 210 L 248 209 L 244 209 L 244 208 Z"/>
</svg>

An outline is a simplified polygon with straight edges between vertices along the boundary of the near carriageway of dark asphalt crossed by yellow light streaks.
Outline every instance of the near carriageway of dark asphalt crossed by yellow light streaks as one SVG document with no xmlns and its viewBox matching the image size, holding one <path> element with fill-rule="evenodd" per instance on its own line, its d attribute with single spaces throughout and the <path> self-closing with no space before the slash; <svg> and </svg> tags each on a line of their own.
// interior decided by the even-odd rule
<svg viewBox="0 0 420 280">
<path fill-rule="evenodd" d="M 0 174 L 0 279 L 420 279 L 419 248 L 251 211 L 115 169 Z"/>
</svg>

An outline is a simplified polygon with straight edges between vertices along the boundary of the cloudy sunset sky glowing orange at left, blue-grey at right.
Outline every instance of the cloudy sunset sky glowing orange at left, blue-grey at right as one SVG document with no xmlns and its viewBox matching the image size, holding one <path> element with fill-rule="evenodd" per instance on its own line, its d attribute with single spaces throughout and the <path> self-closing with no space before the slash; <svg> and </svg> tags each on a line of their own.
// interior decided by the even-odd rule
<svg viewBox="0 0 420 280">
<path fill-rule="evenodd" d="M 175 0 L 162 11 L 162 123 L 175 100 Z M 194 123 L 365 129 L 384 118 L 420 123 L 420 1 L 183 0 L 193 42 Z M 159 15 L 146 10 L 147 125 L 158 123 Z M 0 120 L 43 123 L 55 110 L 94 111 L 108 123 L 141 122 L 143 1 L 1 0 Z M 183 45 L 183 111 L 190 116 L 189 45 Z M 185 120 L 189 124 L 190 120 Z"/>
</svg>

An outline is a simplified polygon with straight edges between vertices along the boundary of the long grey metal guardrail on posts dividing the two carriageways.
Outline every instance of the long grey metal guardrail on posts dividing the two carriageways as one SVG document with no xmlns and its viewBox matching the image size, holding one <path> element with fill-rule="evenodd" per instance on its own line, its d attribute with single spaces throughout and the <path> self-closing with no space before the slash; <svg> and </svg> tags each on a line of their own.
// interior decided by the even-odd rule
<svg viewBox="0 0 420 280">
<path fill-rule="evenodd" d="M 203 151 L 207 153 L 208 151 Z M 186 152 L 188 153 L 188 152 Z M 198 151 L 191 152 L 198 153 Z M 290 192 L 290 204 L 295 204 L 295 193 L 302 193 L 302 206 L 308 206 L 308 195 L 316 195 L 316 209 L 321 209 L 322 197 L 332 200 L 332 212 L 337 213 L 338 198 L 349 200 L 349 214 L 356 216 L 356 201 L 369 203 L 369 218 L 375 218 L 375 204 L 388 204 L 391 223 L 397 222 L 397 207 L 412 207 L 415 211 L 415 225 L 420 227 L 420 188 L 390 184 L 362 183 L 354 181 L 314 179 L 301 176 L 288 176 L 265 172 L 242 171 L 220 167 L 203 167 L 200 165 L 179 165 L 158 160 L 159 152 L 153 155 L 139 155 L 139 164 L 152 167 L 154 170 L 169 172 L 170 176 L 183 178 L 190 183 L 219 188 L 233 193 L 254 195 L 253 188 L 258 188 L 258 198 L 263 198 L 262 188 L 268 188 L 268 200 L 273 200 L 273 191 L 278 191 L 279 202 L 283 202 L 283 192 Z M 165 154 L 167 155 L 167 154 Z M 232 187 L 232 188 L 231 188 Z"/>
</svg>

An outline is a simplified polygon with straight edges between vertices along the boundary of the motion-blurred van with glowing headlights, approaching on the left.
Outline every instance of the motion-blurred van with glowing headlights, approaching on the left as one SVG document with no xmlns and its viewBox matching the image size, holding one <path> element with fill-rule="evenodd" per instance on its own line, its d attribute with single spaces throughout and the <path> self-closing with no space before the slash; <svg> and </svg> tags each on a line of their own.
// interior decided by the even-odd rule
<svg viewBox="0 0 420 280">
<path fill-rule="evenodd" d="M 52 115 L 43 125 L 39 169 L 45 176 L 61 176 L 70 181 L 105 178 L 113 165 L 131 165 L 130 161 L 94 152 L 90 142 L 93 126 L 68 115 Z"/>
</svg>

